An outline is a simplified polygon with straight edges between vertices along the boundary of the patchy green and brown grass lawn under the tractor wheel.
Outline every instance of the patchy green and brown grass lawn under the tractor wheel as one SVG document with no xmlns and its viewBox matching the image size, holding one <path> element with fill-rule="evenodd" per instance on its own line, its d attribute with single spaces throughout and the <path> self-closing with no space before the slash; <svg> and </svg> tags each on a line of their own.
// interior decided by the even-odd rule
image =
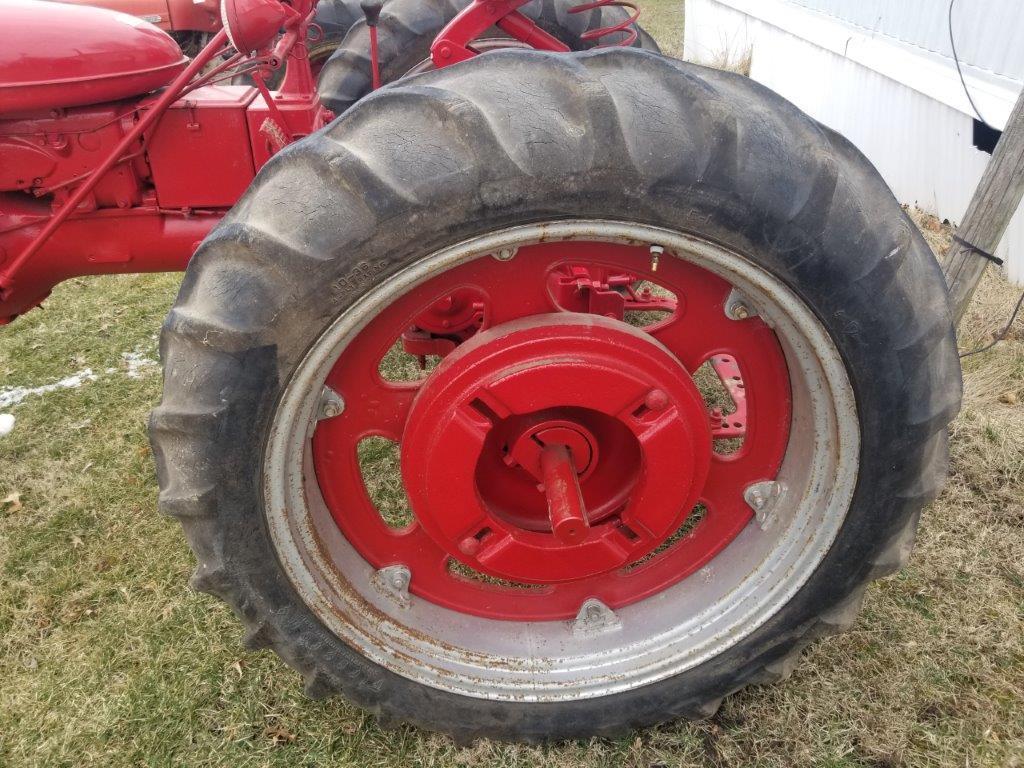
<svg viewBox="0 0 1024 768">
<path fill-rule="evenodd" d="M 680 3 L 644 5 L 678 52 Z M 936 249 L 948 242 L 922 224 Z M 950 482 L 909 567 L 790 681 L 621 741 L 457 748 L 306 699 L 275 656 L 242 649 L 226 606 L 186 586 L 193 556 L 156 512 L 144 431 L 178 281 L 75 280 L 0 330 L 0 413 L 16 418 L 0 436 L 0 766 L 1024 766 L 1020 331 L 966 361 Z M 1015 299 L 990 275 L 964 348 Z"/>
</svg>

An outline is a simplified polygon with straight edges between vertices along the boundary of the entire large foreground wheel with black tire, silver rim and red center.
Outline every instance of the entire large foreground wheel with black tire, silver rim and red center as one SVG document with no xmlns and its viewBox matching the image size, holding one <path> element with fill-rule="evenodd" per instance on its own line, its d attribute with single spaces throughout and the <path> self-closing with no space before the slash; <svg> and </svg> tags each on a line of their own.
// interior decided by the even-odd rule
<svg viewBox="0 0 1024 768">
<path fill-rule="evenodd" d="M 380 372 L 431 324 L 462 329 L 435 368 Z M 906 562 L 961 396 L 942 274 L 864 157 L 630 49 L 498 51 L 288 147 L 161 353 L 193 586 L 310 695 L 463 740 L 783 678 Z M 400 478 L 365 481 L 385 450 Z"/>
</svg>

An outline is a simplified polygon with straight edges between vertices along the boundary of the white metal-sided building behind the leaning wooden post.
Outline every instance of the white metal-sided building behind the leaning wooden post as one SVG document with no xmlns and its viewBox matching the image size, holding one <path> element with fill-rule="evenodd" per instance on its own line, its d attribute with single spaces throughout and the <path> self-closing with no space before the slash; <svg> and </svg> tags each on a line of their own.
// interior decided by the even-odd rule
<svg viewBox="0 0 1024 768">
<path fill-rule="evenodd" d="M 998 134 L 965 93 L 948 10 L 948 0 L 686 0 L 683 52 L 749 65 L 856 143 L 902 202 L 959 223 Z M 974 102 L 1001 131 L 1024 87 L 1024 0 L 955 0 L 952 32 Z M 996 253 L 1024 283 L 1024 206 Z"/>
</svg>

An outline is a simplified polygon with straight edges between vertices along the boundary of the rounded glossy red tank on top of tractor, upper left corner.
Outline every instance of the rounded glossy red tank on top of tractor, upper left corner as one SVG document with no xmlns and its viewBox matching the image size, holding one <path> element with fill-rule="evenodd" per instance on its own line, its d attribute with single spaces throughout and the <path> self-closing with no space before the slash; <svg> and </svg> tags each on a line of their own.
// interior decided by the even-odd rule
<svg viewBox="0 0 1024 768">
<path fill-rule="evenodd" d="M 0 114 L 130 98 L 167 85 L 187 58 L 169 35 L 126 13 L 0 0 Z"/>
</svg>

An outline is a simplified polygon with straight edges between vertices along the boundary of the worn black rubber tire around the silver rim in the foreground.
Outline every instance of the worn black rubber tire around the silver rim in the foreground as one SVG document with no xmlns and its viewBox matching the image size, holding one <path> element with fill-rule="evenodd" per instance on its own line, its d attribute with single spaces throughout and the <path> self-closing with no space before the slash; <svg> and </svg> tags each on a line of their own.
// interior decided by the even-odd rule
<svg viewBox="0 0 1024 768">
<path fill-rule="evenodd" d="M 371 286 L 469 238 L 573 217 L 696 233 L 803 297 L 853 385 L 858 483 L 819 568 L 719 656 L 600 698 L 465 698 L 367 660 L 297 597 L 265 529 L 261 455 L 298 360 Z M 160 505 L 196 552 L 194 587 L 226 601 L 246 643 L 275 650 L 311 695 L 461 740 L 620 734 L 709 716 L 731 691 L 784 677 L 906 561 L 961 398 L 942 274 L 863 156 L 748 78 L 626 49 L 500 51 L 386 87 L 288 147 L 188 265 L 161 353 Z"/>
</svg>

